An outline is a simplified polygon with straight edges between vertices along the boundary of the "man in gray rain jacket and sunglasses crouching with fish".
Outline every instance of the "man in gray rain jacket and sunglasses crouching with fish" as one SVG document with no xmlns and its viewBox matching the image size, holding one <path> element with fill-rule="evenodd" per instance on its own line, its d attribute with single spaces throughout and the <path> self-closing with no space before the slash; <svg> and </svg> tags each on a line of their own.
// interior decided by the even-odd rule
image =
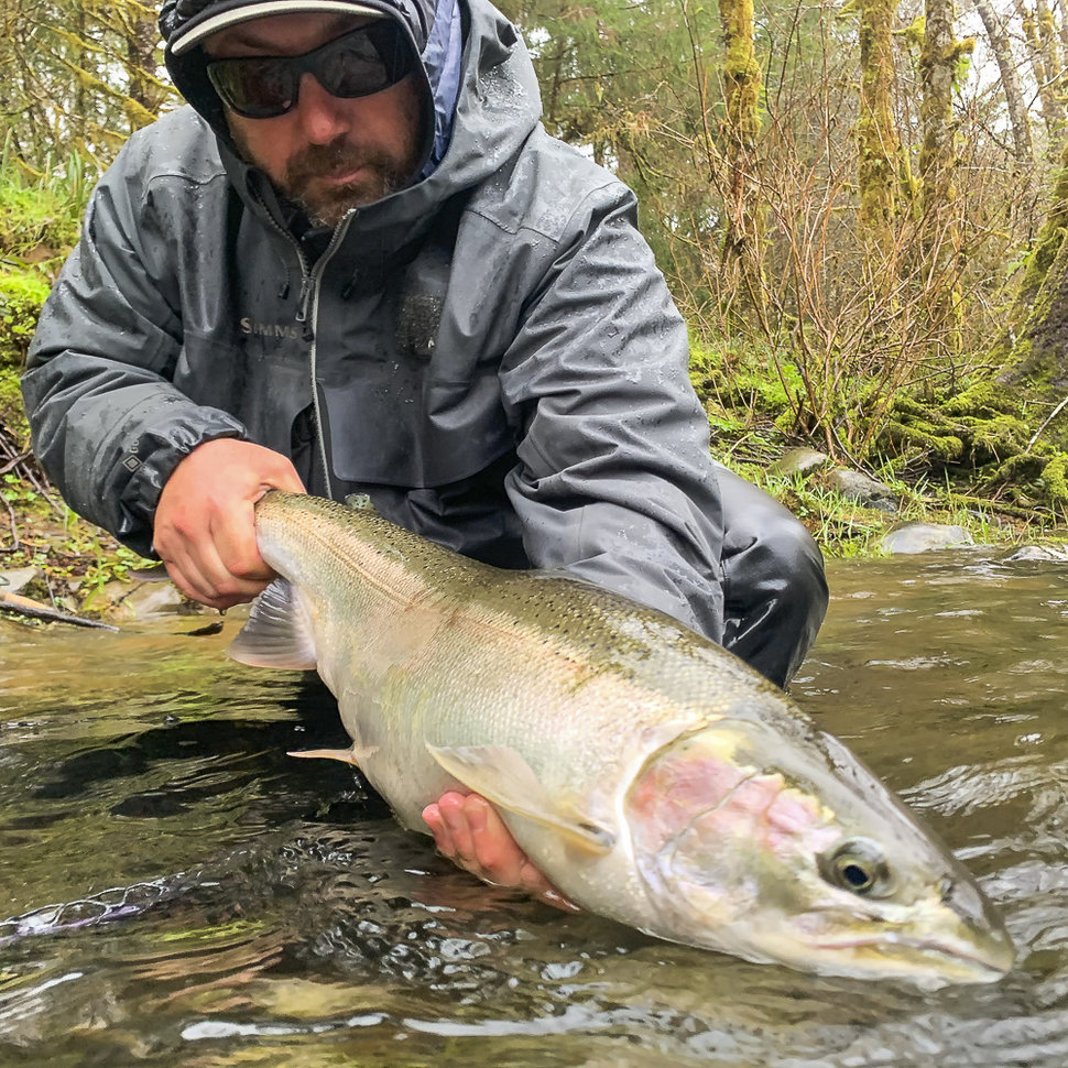
<svg viewBox="0 0 1068 1068">
<path fill-rule="evenodd" d="M 708 456 L 632 194 L 546 135 L 487 0 L 167 0 L 192 108 L 130 139 L 42 315 L 34 446 L 77 512 L 225 609 L 270 487 L 504 567 L 564 567 L 785 685 L 818 551 Z M 427 822 L 548 887 L 478 797 Z"/>
</svg>

